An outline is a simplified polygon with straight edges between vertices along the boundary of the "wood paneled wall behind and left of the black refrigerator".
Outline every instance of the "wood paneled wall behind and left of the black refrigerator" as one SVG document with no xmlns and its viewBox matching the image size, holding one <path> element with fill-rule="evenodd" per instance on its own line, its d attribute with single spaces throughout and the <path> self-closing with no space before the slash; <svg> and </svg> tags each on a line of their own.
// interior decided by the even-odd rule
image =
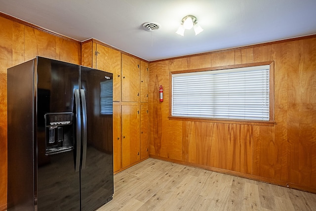
<svg viewBox="0 0 316 211">
<path fill-rule="evenodd" d="M 0 13 L 0 211 L 7 197 L 7 68 L 43 56 L 80 64 L 81 43 Z"/>
</svg>

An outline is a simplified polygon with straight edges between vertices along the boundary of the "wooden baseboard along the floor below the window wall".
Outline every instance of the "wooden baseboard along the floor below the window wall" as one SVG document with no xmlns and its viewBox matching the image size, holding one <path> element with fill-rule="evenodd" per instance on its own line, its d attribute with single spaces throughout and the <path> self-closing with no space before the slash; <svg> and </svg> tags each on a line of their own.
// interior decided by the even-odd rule
<svg viewBox="0 0 316 211">
<path fill-rule="evenodd" d="M 239 177 L 243 177 L 243 178 L 247 178 L 247 179 L 253 179 L 253 180 L 257 180 L 257 181 L 261 181 L 261 182 L 266 182 L 266 183 L 270 183 L 270 184 L 274 184 L 274 185 L 279 185 L 279 186 L 283 186 L 283 187 L 287 187 L 287 188 L 297 189 L 297 190 L 306 191 L 306 192 L 316 194 L 316 188 L 307 187 L 307 186 L 296 184 L 296 183 L 266 178 L 266 177 L 262 177 L 262 176 L 256 176 L 256 175 L 247 174 L 247 173 L 241 173 L 241 172 L 237 172 L 237 171 L 233 171 L 233 170 L 219 169 L 219 168 L 215 168 L 215 167 L 209 167 L 209 166 L 204 166 L 204 165 L 200 165 L 200 164 L 194 164 L 194 163 L 174 160 L 174 159 L 170 159 L 170 158 L 159 157 L 159 156 L 155 156 L 155 155 L 150 155 L 149 157 L 154 158 L 154 159 L 158 159 L 158 160 L 162 160 L 162 161 L 171 162 L 171 163 L 182 164 L 185 166 L 196 167 L 196 168 L 211 170 L 211 171 L 215 171 L 215 172 L 219 172 L 219 173 L 230 174 L 230 175 L 234 175 L 234 176 L 239 176 Z"/>
</svg>

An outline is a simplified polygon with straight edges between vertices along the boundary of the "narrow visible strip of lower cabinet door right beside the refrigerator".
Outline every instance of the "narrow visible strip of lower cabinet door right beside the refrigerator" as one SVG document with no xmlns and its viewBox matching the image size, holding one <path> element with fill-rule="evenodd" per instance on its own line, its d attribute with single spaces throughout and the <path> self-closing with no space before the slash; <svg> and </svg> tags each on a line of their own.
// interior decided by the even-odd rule
<svg viewBox="0 0 316 211">
<path fill-rule="evenodd" d="M 113 171 L 122 169 L 120 105 L 113 105 Z"/>
</svg>

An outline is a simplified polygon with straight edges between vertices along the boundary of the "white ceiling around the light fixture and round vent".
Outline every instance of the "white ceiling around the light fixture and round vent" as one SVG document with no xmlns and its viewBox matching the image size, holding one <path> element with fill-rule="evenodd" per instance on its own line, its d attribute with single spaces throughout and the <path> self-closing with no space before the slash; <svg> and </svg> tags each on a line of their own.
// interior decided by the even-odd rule
<svg viewBox="0 0 316 211">
<path fill-rule="evenodd" d="M 0 0 L 0 11 L 148 61 L 316 34 L 316 0 Z M 189 14 L 204 31 L 177 35 Z"/>
</svg>

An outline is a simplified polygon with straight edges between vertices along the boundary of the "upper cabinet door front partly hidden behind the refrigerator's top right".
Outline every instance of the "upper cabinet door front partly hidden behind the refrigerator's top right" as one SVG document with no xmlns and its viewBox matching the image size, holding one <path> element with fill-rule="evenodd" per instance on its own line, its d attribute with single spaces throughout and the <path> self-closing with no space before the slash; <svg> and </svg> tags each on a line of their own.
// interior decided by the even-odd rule
<svg viewBox="0 0 316 211">
<path fill-rule="evenodd" d="M 97 44 L 96 49 L 96 69 L 113 73 L 113 101 L 120 101 L 121 53 L 102 44 Z"/>
</svg>

